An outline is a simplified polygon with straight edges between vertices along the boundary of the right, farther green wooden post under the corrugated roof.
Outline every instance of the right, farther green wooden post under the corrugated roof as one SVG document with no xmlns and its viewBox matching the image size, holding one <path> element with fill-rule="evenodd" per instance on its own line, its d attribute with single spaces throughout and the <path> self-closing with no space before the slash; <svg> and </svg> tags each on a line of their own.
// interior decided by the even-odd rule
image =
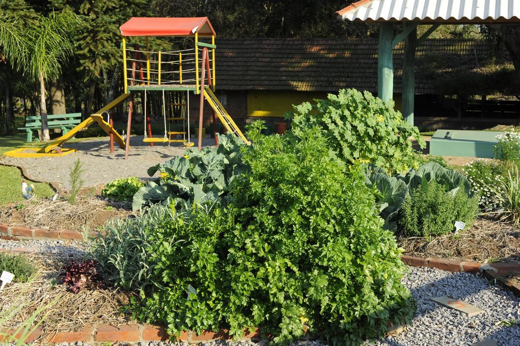
<svg viewBox="0 0 520 346">
<path fill-rule="evenodd" d="M 410 25 L 410 24 L 405 24 Z M 405 56 L 402 59 L 402 116 L 413 125 L 415 98 L 415 50 L 417 50 L 417 24 L 405 40 Z"/>
</svg>

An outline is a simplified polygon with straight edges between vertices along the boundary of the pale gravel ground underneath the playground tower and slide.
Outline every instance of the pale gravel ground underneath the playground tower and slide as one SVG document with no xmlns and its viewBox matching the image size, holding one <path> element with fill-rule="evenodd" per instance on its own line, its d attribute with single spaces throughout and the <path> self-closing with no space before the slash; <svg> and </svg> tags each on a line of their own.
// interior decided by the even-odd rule
<svg viewBox="0 0 520 346">
<path fill-rule="evenodd" d="M 37 181 L 53 182 L 64 189 L 69 189 L 69 171 L 74 162 L 80 159 L 86 171 L 83 173 L 85 187 L 107 184 L 117 178 L 137 176 L 147 180 L 146 173 L 150 166 L 162 163 L 172 156 L 184 155 L 186 148 L 180 143 L 155 144 L 150 147 L 142 143 L 143 136 L 132 136 L 128 160 L 125 160 L 125 151 L 117 144 L 114 152 L 110 153 L 108 137 L 85 139 L 82 142 L 66 143 L 64 147 L 79 151 L 62 157 L 44 158 L 11 158 L 1 157 L 0 163 L 23 166 L 31 178 Z M 194 140 L 194 139 L 192 139 Z M 214 145 L 215 140 L 205 138 L 204 146 Z"/>
</svg>

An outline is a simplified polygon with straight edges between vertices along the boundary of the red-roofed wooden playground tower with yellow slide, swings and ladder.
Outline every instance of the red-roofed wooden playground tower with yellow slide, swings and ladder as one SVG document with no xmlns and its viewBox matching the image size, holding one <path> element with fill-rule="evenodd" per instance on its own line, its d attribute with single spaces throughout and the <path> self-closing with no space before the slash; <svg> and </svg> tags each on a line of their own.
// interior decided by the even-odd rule
<svg viewBox="0 0 520 346">
<path fill-rule="evenodd" d="M 123 36 L 123 78 L 124 94 L 110 104 L 92 114 L 86 120 L 43 148 L 18 148 L 5 153 L 12 157 L 62 156 L 75 149 L 62 145 L 93 123 L 97 123 L 110 136 L 111 152 L 113 142 L 125 149 L 128 158 L 134 106 L 139 100 L 144 114 L 144 142 L 153 146 L 157 143 L 172 142 L 192 146 L 190 142 L 190 95 L 200 95 L 198 126 L 198 147 L 202 147 L 204 100 L 211 106 L 213 133 L 216 133 L 216 118 L 223 123 L 228 133 L 249 141 L 229 116 L 215 96 L 215 31 L 207 17 L 197 18 L 141 18 L 133 17 L 120 27 Z M 150 50 L 149 37 L 192 37 L 193 48 L 179 50 Z M 135 39 L 135 37 L 138 37 Z M 145 37 L 145 45 L 140 45 Z M 199 37 L 211 39 L 211 43 L 199 41 Z M 141 40 L 141 41 L 139 41 Z M 131 42 L 132 41 L 132 42 Z M 211 53 L 210 53 L 211 52 Z M 207 80 L 207 83 L 206 83 Z M 124 101 L 128 101 L 128 121 L 126 142 L 113 128 L 109 111 Z M 152 100 L 160 100 L 161 107 L 153 107 Z M 157 102 L 155 102 L 157 106 Z M 159 109 L 158 109 L 159 108 Z M 152 134 L 152 114 L 162 118 L 164 132 L 160 136 Z M 103 116 L 107 116 L 107 120 Z M 180 130 L 180 126 L 182 129 Z M 174 129 L 172 130 L 172 127 Z M 218 144 L 215 135 L 215 144 Z"/>
</svg>

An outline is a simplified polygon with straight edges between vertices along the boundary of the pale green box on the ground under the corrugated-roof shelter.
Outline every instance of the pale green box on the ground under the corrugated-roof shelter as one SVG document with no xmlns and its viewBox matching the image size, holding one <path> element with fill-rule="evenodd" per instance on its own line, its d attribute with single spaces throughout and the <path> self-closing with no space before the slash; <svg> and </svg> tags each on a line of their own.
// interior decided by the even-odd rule
<svg viewBox="0 0 520 346">
<path fill-rule="evenodd" d="M 430 139 L 430 154 L 493 158 L 501 131 L 437 130 Z"/>
</svg>

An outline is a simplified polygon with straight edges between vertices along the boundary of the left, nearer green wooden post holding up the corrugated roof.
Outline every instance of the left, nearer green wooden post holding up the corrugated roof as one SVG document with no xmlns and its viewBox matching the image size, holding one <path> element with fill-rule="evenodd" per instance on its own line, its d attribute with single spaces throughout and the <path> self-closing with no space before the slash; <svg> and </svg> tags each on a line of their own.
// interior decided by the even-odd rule
<svg viewBox="0 0 520 346">
<path fill-rule="evenodd" d="M 378 96 L 383 101 L 389 101 L 394 97 L 393 40 L 394 23 L 381 23 L 379 29 Z"/>
</svg>

